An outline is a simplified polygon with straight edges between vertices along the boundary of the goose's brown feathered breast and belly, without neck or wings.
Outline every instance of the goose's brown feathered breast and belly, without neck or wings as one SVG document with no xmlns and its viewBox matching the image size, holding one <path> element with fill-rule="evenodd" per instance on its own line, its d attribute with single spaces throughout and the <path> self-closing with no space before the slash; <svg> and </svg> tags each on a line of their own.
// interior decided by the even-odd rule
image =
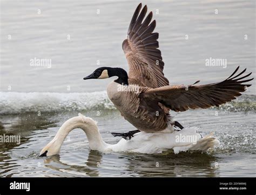
<svg viewBox="0 0 256 195">
<path fill-rule="evenodd" d="M 169 114 L 160 107 L 158 101 L 142 101 L 140 94 L 147 89 L 136 85 L 122 86 L 110 82 L 107 95 L 125 120 L 140 131 L 157 132 L 167 128 Z"/>
</svg>

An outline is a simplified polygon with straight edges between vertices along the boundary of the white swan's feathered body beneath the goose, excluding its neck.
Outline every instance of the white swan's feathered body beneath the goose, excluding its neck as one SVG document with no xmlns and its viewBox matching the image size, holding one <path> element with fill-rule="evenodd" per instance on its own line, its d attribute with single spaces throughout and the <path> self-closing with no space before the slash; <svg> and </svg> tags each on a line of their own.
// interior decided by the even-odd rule
<svg viewBox="0 0 256 195">
<path fill-rule="evenodd" d="M 184 128 L 174 133 L 145 133 L 134 134 L 132 140 L 120 140 L 112 145 L 113 151 L 130 151 L 143 154 L 157 154 L 173 149 L 175 154 L 187 150 L 208 150 L 219 145 L 217 138 L 212 134 L 201 138 L 197 127 Z M 188 139 L 182 140 L 181 137 Z M 181 140 L 179 140 L 181 138 Z"/>
</svg>

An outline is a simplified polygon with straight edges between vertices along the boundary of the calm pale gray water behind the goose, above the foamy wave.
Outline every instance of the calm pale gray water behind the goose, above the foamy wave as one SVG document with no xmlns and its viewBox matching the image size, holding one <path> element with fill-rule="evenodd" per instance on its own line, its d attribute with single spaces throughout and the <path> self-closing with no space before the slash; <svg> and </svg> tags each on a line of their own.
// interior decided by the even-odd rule
<svg viewBox="0 0 256 195">
<path fill-rule="evenodd" d="M 255 73 L 255 1 L 142 3 L 157 21 L 155 31 L 170 83 L 221 81 L 238 65 Z M 1 90 L 6 92 L 9 86 L 15 92 L 105 90 L 112 79 L 83 78 L 100 66 L 128 70 L 122 43 L 138 4 L 1 0 Z M 30 66 L 34 58 L 51 59 L 51 68 Z M 205 66 L 209 58 L 227 59 L 227 68 Z M 255 88 L 249 92 L 255 94 Z"/>
</svg>

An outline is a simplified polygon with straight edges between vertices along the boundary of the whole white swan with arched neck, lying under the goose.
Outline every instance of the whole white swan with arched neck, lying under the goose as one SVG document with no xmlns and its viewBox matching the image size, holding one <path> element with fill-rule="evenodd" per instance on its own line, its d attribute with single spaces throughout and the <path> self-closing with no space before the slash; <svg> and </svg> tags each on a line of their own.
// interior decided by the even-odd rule
<svg viewBox="0 0 256 195">
<path fill-rule="evenodd" d="M 219 141 L 212 135 L 201 138 L 200 134 L 196 133 L 197 128 L 184 128 L 174 133 L 140 132 L 134 134 L 134 137 L 129 141 L 122 138 L 116 144 L 107 144 L 102 140 L 97 123 L 90 117 L 78 114 L 78 116 L 64 122 L 53 140 L 42 149 L 40 156 L 59 154 L 65 137 L 70 131 L 77 128 L 84 130 L 92 150 L 102 152 L 127 151 L 156 154 L 167 149 L 173 149 L 174 153 L 177 154 L 180 151 L 186 150 L 208 150 L 219 145 Z"/>
</svg>

